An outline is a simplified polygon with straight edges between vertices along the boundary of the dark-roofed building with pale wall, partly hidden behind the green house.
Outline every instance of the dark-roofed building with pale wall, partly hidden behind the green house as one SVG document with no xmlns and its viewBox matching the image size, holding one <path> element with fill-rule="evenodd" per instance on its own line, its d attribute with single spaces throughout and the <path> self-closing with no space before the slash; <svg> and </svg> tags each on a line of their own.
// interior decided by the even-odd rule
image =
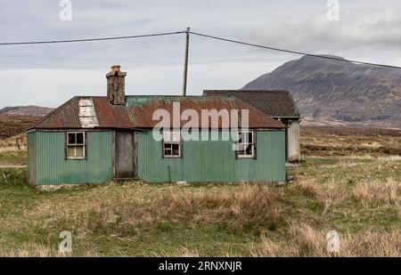
<svg viewBox="0 0 401 275">
<path fill-rule="evenodd" d="M 249 103 L 252 107 L 264 112 L 284 125 L 285 155 L 287 163 L 298 164 L 299 149 L 299 123 L 300 115 L 297 105 L 289 91 L 282 90 L 205 90 L 206 96 L 233 96 Z"/>
</svg>

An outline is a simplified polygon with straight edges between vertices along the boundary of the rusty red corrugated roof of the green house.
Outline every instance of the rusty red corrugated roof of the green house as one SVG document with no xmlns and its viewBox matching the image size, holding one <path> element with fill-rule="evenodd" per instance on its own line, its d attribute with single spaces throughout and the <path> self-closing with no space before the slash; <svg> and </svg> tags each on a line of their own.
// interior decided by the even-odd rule
<svg viewBox="0 0 401 275">
<path fill-rule="evenodd" d="M 131 96 L 131 100 L 135 96 Z M 281 122 L 269 117 L 263 112 L 250 106 L 250 104 L 237 98 L 210 98 L 210 97 L 180 97 L 180 96 L 153 96 L 153 97 L 136 97 L 134 105 L 127 106 L 112 105 L 107 97 L 74 97 L 67 101 L 61 107 L 54 109 L 53 112 L 45 116 L 37 124 L 32 125 L 29 129 L 77 129 L 81 128 L 79 117 L 79 100 L 91 99 L 98 125 L 96 128 L 152 128 L 160 120 L 153 120 L 153 113 L 157 109 L 164 109 L 173 120 L 173 102 L 180 103 L 180 111 L 185 109 L 194 110 L 199 117 L 199 126 L 201 127 L 202 110 L 215 109 L 218 111 L 227 110 L 228 114 L 231 110 L 237 109 L 249 110 L 249 127 L 250 128 L 284 128 Z M 140 103 L 137 103 L 140 102 Z M 222 128 L 224 125 L 221 119 L 218 119 L 217 127 Z M 241 118 L 240 118 L 241 120 Z M 187 123 L 187 120 L 180 119 L 180 126 Z M 209 125 L 213 127 L 209 118 Z"/>
</svg>

